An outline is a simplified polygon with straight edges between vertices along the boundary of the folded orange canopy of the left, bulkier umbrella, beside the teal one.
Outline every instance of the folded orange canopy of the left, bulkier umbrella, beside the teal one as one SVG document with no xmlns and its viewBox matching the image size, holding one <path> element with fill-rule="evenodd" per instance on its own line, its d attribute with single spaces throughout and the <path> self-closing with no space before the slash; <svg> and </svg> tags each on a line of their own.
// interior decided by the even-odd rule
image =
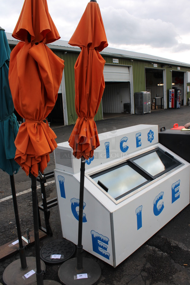
<svg viewBox="0 0 190 285">
<path fill-rule="evenodd" d="M 44 120 L 55 106 L 64 69 L 64 61 L 46 45 L 60 38 L 46 0 L 25 0 L 12 36 L 24 41 L 12 50 L 9 65 L 14 106 L 25 119 L 15 140 L 15 160 L 26 175 L 37 177 L 57 147 L 56 135 Z"/>
</svg>

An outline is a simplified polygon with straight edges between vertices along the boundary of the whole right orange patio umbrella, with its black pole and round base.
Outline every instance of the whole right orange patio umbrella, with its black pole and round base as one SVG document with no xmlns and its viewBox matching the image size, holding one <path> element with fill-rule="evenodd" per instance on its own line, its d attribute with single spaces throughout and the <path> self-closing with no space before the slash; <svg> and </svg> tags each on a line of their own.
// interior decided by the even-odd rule
<svg viewBox="0 0 190 285">
<path fill-rule="evenodd" d="M 106 33 L 99 6 L 96 0 L 91 0 L 79 21 L 79 24 L 69 40 L 70 45 L 81 48 L 80 55 L 74 66 L 75 72 L 75 109 L 77 121 L 69 138 L 73 155 L 81 158 L 80 194 L 78 219 L 77 258 L 64 262 L 59 268 L 59 279 L 63 284 L 72 285 L 73 276 L 87 273 L 90 278 L 82 279 L 83 285 L 97 284 L 101 276 L 99 265 L 91 259 L 82 257 L 82 227 L 83 227 L 83 194 L 85 159 L 93 157 L 94 150 L 100 145 L 94 116 L 98 111 L 105 88 L 103 68 L 105 60 L 100 51 L 107 45 Z"/>
</svg>

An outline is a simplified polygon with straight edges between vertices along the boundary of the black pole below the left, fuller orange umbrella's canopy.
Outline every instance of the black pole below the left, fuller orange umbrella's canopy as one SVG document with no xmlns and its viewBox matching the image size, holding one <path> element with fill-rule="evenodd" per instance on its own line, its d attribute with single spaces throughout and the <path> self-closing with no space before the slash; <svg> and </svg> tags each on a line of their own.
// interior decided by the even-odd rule
<svg viewBox="0 0 190 285">
<path fill-rule="evenodd" d="M 44 284 L 43 272 L 41 270 L 41 261 L 40 261 L 37 185 L 36 185 L 36 177 L 33 174 L 30 174 L 30 177 L 31 177 L 31 189 L 32 189 L 34 240 L 35 240 L 35 252 L 36 252 L 36 281 L 37 285 L 43 285 Z"/>
</svg>

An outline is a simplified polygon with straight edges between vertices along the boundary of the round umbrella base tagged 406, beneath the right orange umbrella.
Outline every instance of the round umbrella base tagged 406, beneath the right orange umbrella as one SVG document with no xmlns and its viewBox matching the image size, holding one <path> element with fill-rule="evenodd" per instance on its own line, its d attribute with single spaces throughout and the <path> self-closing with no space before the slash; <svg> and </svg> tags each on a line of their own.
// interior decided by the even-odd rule
<svg viewBox="0 0 190 285">
<path fill-rule="evenodd" d="M 77 258 L 69 259 L 60 266 L 58 276 L 61 284 L 93 285 L 98 283 L 101 269 L 97 262 L 83 258 L 83 270 L 78 271 L 76 266 Z"/>
</svg>

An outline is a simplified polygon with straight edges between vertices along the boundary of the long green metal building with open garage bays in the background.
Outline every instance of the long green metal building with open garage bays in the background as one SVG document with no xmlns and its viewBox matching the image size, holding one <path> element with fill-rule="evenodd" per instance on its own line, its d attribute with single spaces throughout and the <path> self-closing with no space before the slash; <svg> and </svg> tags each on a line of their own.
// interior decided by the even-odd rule
<svg viewBox="0 0 190 285">
<path fill-rule="evenodd" d="M 6 33 L 11 50 L 18 40 Z M 76 122 L 74 64 L 80 48 L 72 47 L 67 41 L 57 40 L 48 44 L 50 49 L 64 60 L 64 72 L 54 109 L 48 116 L 50 122 L 72 125 Z M 102 120 L 107 113 L 122 113 L 128 106 L 128 113 L 135 113 L 135 93 L 147 91 L 154 105 L 169 108 L 169 89 L 181 89 L 181 105 L 190 97 L 190 64 L 152 55 L 105 48 L 101 53 L 105 59 L 105 90 L 95 120 Z M 162 104 L 161 104 L 162 100 Z M 154 106 L 153 106 L 154 107 Z"/>
</svg>

